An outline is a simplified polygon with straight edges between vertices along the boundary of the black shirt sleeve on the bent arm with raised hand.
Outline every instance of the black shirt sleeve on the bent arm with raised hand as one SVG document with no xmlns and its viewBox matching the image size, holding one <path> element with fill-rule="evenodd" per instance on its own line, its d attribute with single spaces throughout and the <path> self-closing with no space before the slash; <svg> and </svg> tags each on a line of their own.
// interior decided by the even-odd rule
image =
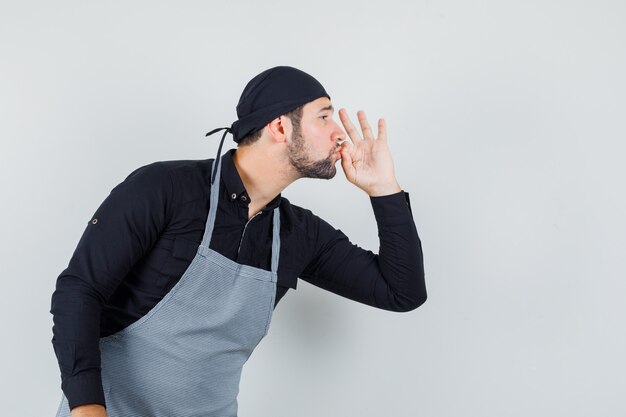
<svg viewBox="0 0 626 417">
<path fill-rule="evenodd" d="M 426 301 L 422 245 L 408 193 L 370 197 L 379 253 L 365 250 L 319 219 L 319 246 L 300 278 L 384 310 L 406 312 Z"/>
</svg>

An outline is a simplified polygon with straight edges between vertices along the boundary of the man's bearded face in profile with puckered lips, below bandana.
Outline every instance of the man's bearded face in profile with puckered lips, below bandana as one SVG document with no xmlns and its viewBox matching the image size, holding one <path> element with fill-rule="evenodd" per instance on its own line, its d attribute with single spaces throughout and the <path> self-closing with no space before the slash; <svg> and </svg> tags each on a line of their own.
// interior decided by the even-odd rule
<svg viewBox="0 0 626 417">
<path fill-rule="evenodd" d="M 287 142 L 291 165 L 305 178 L 330 179 L 341 159 L 339 145 L 345 133 L 333 119 L 333 106 L 327 97 L 304 105 L 299 125 L 294 125 Z"/>
</svg>

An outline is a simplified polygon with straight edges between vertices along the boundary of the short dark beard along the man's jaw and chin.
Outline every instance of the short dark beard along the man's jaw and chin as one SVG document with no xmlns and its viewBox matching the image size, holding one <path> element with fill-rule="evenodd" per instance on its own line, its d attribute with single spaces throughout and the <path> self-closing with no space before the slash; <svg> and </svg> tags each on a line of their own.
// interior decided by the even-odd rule
<svg viewBox="0 0 626 417">
<path fill-rule="evenodd" d="M 293 131 L 291 142 L 287 148 L 287 156 L 291 166 L 304 178 L 321 178 L 329 180 L 337 173 L 335 168 L 336 159 L 333 158 L 339 150 L 336 147 L 331 151 L 327 158 L 313 160 L 309 157 L 306 146 L 306 140 L 302 137 L 300 129 Z"/>
</svg>

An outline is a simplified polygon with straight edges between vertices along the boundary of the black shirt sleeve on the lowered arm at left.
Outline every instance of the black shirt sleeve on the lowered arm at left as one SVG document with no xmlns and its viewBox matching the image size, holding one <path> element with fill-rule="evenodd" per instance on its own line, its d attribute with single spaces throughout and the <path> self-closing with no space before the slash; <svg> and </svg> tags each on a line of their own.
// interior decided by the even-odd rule
<svg viewBox="0 0 626 417">
<path fill-rule="evenodd" d="M 67 269 L 57 278 L 50 309 L 52 345 L 70 409 L 105 405 L 99 348 L 102 306 L 165 228 L 172 193 L 172 180 L 161 163 L 132 172 L 97 209 Z"/>
</svg>

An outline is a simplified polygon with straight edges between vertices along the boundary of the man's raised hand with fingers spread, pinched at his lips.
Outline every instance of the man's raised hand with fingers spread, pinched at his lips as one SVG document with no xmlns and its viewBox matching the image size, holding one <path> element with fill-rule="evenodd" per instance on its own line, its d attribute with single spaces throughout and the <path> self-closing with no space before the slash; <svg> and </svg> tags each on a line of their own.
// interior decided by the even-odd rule
<svg viewBox="0 0 626 417">
<path fill-rule="evenodd" d="M 339 109 L 339 118 L 351 139 L 341 145 L 341 167 L 348 181 L 372 197 L 400 192 L 387 146 L 385 120 L 378 119 L 378 137 L 374 138 L 363 110 L 357 112 L 363 137 L 350 121 L 345 108 Z"/>
</svg>

